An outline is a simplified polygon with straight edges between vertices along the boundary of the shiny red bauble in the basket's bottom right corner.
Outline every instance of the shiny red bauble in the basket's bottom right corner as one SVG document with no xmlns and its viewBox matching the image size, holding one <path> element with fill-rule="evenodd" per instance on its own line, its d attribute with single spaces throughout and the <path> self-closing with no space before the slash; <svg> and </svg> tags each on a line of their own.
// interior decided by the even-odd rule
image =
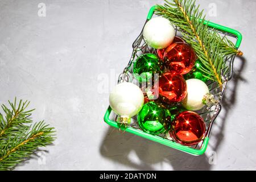
<svg viewBox="0 0 256 182">
<path fill-rule="evenodd" d="M 204 119 L 193 111 L 183 111 L 171 123 L 170 135 L 185 146 L 197 144 L 205 135 Z"/>
</svg>

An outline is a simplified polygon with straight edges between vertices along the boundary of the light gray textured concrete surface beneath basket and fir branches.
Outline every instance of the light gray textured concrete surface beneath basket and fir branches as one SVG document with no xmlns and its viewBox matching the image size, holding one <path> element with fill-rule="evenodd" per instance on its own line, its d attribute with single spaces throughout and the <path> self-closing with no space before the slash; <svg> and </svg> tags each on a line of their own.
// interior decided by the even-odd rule
<svg viewBox="0 0 256 182">
<path fill-rule="evenodd" d="M 38 16 L 40 2 L 46 17 Z M 34 120 L 57 130 L 54 146 L 16 169 L 256 169 L 253 0 L 197 1 L 212 22 L 241 31 L 244 52 L 205 155 L 184 154 L 104 123 L 109 89 L 155 3 L 163 1 L 0 0 L 1 104 L 15 96 L 30 100 Z M 217 16 L 209 16 L 210 3 Z"/>
</svg>

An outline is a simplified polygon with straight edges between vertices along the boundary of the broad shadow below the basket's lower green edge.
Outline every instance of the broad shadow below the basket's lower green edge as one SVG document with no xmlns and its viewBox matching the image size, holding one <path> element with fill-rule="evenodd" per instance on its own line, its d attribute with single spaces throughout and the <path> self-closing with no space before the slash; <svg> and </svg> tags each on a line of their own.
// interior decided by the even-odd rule
<svg viewBox="0 0 256 182">
<path fill-rule="evenodd" d="M 174 170 L 208 170 L 210 168 L 205 155 L 185 154 L 130 133 L 122 134 L 110 127 L 102 141 L 100 152 L 105 158 L 131 169 L 151 171 L 170 168 L 170 166 Z M 167 167 L 164 167 L 166 165 Z"/>
</svg>

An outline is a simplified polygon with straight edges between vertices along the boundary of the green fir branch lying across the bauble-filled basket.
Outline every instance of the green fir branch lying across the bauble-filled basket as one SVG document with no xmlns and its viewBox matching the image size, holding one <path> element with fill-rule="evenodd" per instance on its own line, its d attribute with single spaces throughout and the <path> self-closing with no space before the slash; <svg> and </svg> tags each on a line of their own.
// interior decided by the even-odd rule
<svg viewBox="0 0 256 182">
<path fill-rule="evenodd" d="M 195 0 L 172 0 L 157 5 L 156 15 L 169 19 L 183 35 L 185 42 L 195 50 L 203 64 L 201 71 L 210 80 L 222 85 L 221 70 L 225 67 L 224 57 L 241 55 L 232 42 L 222 38 L 216 30 L 205 24 L 205 15 L 195 5 Z"/>
</svg>

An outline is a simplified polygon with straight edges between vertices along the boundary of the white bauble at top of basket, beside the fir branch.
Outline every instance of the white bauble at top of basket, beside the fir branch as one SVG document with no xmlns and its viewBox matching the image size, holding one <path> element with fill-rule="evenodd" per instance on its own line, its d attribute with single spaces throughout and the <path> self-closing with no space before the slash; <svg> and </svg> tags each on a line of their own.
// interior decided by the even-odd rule
<svg viewBox="0 0 256 182">
<path fill-rule="evenodd" d="M 148 46 L 155 49 L 163 49 L 174 40 L 175 30 L 168 19 L 156 17 L 145 24 L 143 37 Z"/>
</svg>

